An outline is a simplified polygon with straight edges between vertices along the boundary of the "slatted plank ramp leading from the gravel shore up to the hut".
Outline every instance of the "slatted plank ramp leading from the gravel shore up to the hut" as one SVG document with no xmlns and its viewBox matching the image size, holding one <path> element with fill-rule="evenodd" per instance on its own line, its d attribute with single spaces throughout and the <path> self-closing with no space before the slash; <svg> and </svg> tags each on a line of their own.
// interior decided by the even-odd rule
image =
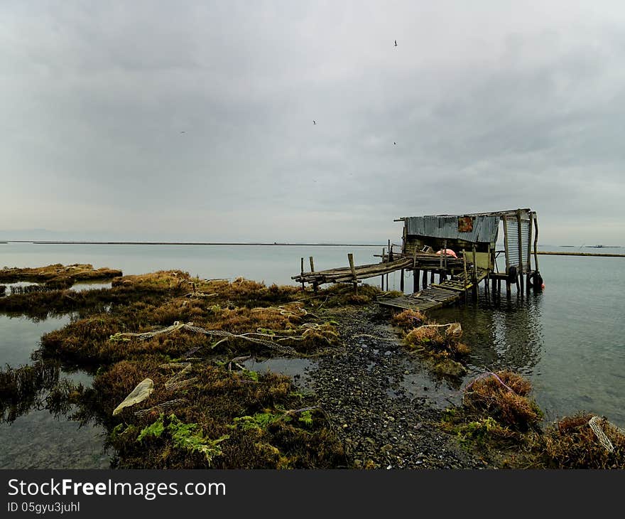
<svg viewBox="0 0 625 519">
<path fill-rule="evenodd" d="M 486 269 L 477 269 L 477 284 L 487 277 Z M 459 301 L 465 291 L 471 289 L 471 276 L 465 285 L 464 272 L 452 279 L 445 279 L 439 284 L 430 284 L 422 291 L 399 297 L 379 297 L 377 302 L 383 306 L 399 309 L 428 311 L 442 306 L 449 306 Z"/>
</svg>

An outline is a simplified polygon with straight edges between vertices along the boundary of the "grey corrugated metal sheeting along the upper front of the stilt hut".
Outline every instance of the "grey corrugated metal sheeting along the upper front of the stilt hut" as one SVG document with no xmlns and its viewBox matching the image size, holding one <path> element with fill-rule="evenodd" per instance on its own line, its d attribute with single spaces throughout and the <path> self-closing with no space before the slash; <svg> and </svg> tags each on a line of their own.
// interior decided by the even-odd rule
<svg viewBox="0 0 625 519">
<path fill-rule="evenodd" d="M 473 216 L 473 230 L 458 230 L 458 215 L 411 216 L 404 219 L 408 235 L 467 240 L 467 242 L 495 242 L 499 229 L 499 216 Z M 464 217 L 462 217 L 464 218 Z"/>
</svg>

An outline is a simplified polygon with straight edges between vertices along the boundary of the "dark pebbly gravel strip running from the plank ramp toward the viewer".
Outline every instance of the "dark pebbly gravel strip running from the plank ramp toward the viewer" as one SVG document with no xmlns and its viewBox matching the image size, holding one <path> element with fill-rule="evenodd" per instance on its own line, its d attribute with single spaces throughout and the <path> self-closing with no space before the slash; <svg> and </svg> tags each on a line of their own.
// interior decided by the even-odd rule
<svg viewBox="0 0 625 519">
<path fill-rule="evenodd" d="M 489 469 L 437 423 L 432 385 L 408 391 L 420 360 L 388 326 L 377 304 L 324 312 L 337 321 L 344 348 L 318 360 L 308 386 L 347 454 L 347 469 Z"/>
</svg>

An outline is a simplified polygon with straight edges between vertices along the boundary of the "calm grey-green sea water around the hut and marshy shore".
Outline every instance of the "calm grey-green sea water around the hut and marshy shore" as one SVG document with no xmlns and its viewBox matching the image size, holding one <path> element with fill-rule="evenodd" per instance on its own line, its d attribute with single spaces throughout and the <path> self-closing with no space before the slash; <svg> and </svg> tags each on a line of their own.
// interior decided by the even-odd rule
<svg viewBox="0 0 625 519">
<path fill-rule="evenodd" d="M 160 269 L 180 269 L 205 279 L 242 276 L 266 284 L 295 284 L 291 276 L 305 270 L 308 257 L 315 269 L 347 266 L 347 253 L 358 264 L 376 263 L 382 245 L 51 245 L 9 242 L 0 244 L 0 267 L 40 267 L 47 264 L 90 263 L 95 268 L 121 269 L 143 274 Z M 561 252 L 615 252 L 539 245 L 539 250 Z M 491 303 L 480 289 L 477 302 L 440 309 L 431 316 L 441 323 L 459 321 L 464 341 L 472 348 L 466 385 L 476 375 L 509 368 L 533 385 L 533 396 L 551 421 L 585 410 L 625 427 L 625 257 L 574 257 L 539 255 L 545 290 L 511 299 L 504 293 Z M 389 288 L 398 289 L 400 274 L 389 274 Z M 366 280 L 379 286 L 380 278 Z M 95 287 L 99 287 L 95 285 Z M 406 291 L 413 279 L 406 277 Z M 76 287 L 89 289 L 88 286 Z M 61 328 L 72 316 L 33 322 L 0 314 L 0 365 L 32 363 L 43 333 Z M 277 370 L 293 374 L 288 360 Z M 85 373 L 63 377 L 89 384 Z M 436 387 L 450 390 L 433 381 Z M 457 397 L 460 395 L 458 388 Z M 452 388 L 453 389 L 453 388 Z M 75 422 L 55 419 L 45 410 L 32 410 L 11 424 L 0 424 L 0 469 L 108 468 L 111 453 L 102 451 L 104 431 L 79 428 Z"/>
</svg>

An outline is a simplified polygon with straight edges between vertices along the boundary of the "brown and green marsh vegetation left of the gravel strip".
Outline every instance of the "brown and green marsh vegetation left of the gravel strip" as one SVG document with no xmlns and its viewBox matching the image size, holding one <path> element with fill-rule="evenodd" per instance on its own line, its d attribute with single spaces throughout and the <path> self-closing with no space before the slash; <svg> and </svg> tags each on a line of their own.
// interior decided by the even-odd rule
<svg viewBox="0 0 625 519">
<path fill-rule="evenodd" d="M 335 468 L 346 465 L 344 452 L 314 395 L 303 397 L 290 378 L 233 369 L 236 363 L 228 362 L 239 355 L 270 357 L 273 343 L 300 356 L 335 349 L 341 343 L 335 323 L 314 313 L 315 302 L 330 295 L 322 297 L 298 287 L 206 281 L 169 270 L 115 277 L 110 289 L 14 294 L 0 309 L 77 312 L 41 338 L 38 355 L 94 373 L 72 419 L 107 429 L 119 468 Z M 251 333 L 267 343 L 246 340 Z M 175 368 L 180 362 L 191 363 L 182 375 Z M 153 380 L 150 397 L 113 416 L 145 378 Z M 56 385 L 50 401 L 67 407 L 76 400 L 69 392 Z M 257 427 L 243 427 L 249 420 Z"/>
</svg>

